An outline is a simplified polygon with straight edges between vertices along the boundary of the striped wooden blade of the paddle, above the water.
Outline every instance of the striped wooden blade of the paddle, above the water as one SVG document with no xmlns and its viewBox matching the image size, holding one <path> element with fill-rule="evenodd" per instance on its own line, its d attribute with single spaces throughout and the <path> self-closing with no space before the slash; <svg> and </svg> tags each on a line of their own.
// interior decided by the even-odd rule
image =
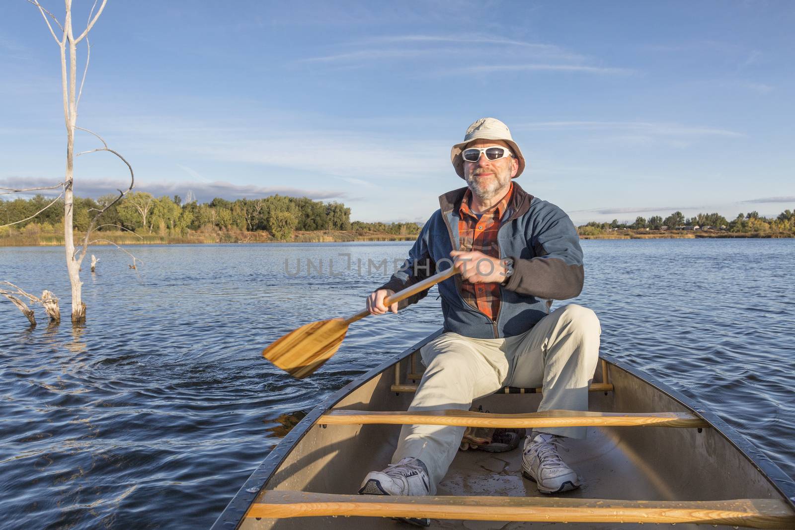
<svg viewBox="0 0 795 530">
<path fill-rule="evenodd" d="M 347 327 L 344 319 L 322 320 L 301 326 L 262 350 L 262 357 L 296 379 L 303 379 L 339 350 Z"/>
</svg>

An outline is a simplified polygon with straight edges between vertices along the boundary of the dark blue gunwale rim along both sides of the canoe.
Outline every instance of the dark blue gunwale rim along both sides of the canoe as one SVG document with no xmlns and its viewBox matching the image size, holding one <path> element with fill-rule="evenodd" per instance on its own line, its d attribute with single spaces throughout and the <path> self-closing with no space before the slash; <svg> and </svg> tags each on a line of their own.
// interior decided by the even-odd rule
<svg viewBox="0 0 795 530">
<path fill-rule="evenodd" d="M 337 392 L 332 393 L 321 401 L 320 404 L 313 408 L 312 411 L 281 440 L 281 443 L 279 443 L 273 451 L 270 451 L 260 466 L 258 466 L 246 482 L 243 483 L 238 493 L 231 499 L 218 519 L 215 520 L 211 530 L 230 530 L 231 528 L 238 528 L 245 519 L 246 512 L 250 509 L 256 497 L 258 497 L 262 489 L 265 488 L 267 482 L 273 478 L 273 474 L 276 473 L 281 464 L 285 461 L 289 452 L 292 451 L 293 447 L 295 447 L 302 438 L 304 438 L 304 435 L 308 433 L 310 428 L 317 423 L 320 416 L 328 412 L 328 410 L 333 408 L 335 404 L 338 404 L 340 400 L 343 400 L 349 393 L 354 392 L 355 389 L 359 389 L 360 386 L 370 381 L 373 377 L 378 376 L 378 374 L 385 370 L 394 369 L 395 363 L 409 358 L 410 355 L 419 350 L 427 342 L 441 335 L 442 332 L 443 330 L 440 329 L 402 351 L 401 354 L 386 359 L 381 365 L 376 366 L 374 369 L 370 369 L 369 372 L 364 373 L 354 381 L 345 385 L 342 389 L 339 389 Z M 715 416 L 714 413 L 700 408 L 700 405 L 696 404 L 693 400 L 685 397 L 676 390 L 670 389 L 664 383 L 657 381 L 641 370 L 626 366 L 626 364 L 617 361 L 609 355 L 601 355 L 600 357 L 609 365 L 612 365 L 612 369 L 620 369 L 633 377 L 637 377 L 646 385 L 650 385 L 653 389 L 665 394 L 665 396 L 681 404 L 684 408 L 696 412 L 696 414 L 704 419 L 710 427 L 715 429 L 723 438 L 727 439 L 731 446 L 739 451 L 740 455 L 743 455 L 748 462 L 759 470 L 766 481 L 770 483 L 770 486 L 781 494 L 781 497 L 783 497 L 785 502 L 789 503 L 792 509 L 795 509 L 795 480 L 789 478 L 789 476 L 776 466 L 774 462 L 771 462 L 766 455 L 763 455 L 761 451 L 750 444 L 743 436 L 739 435 L 733 427 L 727 425 L 718 416 Z"/>
</svg>

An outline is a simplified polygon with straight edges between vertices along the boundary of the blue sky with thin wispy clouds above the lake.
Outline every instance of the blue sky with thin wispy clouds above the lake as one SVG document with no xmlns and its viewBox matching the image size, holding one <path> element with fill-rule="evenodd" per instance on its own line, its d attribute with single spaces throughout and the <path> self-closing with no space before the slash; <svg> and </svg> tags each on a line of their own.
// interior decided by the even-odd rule
<svg viewBox="0 0 795 530">
<path fill-rule="evenodd" d="M 75 0 L 77 28 L 91 3 Z M 775 215 L 795 207 L 793 27 L 795 2 L 761 0 L 110 0 L 78 125 L 139 191 L 425 221 L 463 185 L 451 145 L 494 116 L 527 158 L 518 182 L 575 222 Z M 56 183 L 59 52 L 24 0 L 0 4 L 0 69 L 0 186 Z M 107 153 L 81 157 L 76 193 L 124 178 Z"/>
</svg>

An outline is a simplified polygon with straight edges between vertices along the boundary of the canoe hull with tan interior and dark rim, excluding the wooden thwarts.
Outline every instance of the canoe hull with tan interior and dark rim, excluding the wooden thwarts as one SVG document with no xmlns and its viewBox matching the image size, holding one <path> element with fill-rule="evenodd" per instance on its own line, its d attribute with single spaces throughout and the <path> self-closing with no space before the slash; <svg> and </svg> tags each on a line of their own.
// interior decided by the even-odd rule
<svg viewBox="0 0 795 530">
<path fill-rule="evenodd" d="M 329 409 L 406 410 L 413 393 L 394 393 L 394 364 L 410 373 L 407 358 L 437 332 L 402 354 L 351 382 L 318 405 L 290 431 L 252 474 L 213 528 L 401 528 L 402 523 L 371 517 L 244 518 L 261 489 L 316 493 L 355 493 L 363 476 L 390 462 L 400 427 L 395 425 L 328 425 L 316 420 Z M 719 501 L 739 498 L 795 498 L 795 485 L 778 467 L 758 454 L 721 420 L 650 377 L 607 358 L 610 393 L 592 392 L 589 408 L 599 412 L 696 412 L 711 427 L 589 427 L 588 438 L 567 440 L 564 459 L 583 478 L 570 498 L 626 501 Z M 405 376 L 404 376 L 405 377 Z M 601 368 L 594 381 L 602 382 Z M 484 411 L 533 412 L 540 394 L 495 394 L 476 400 Z M 522 478 L 521 451 L 491 454 L 460 451 L 439 485 L 440 495 L 539 497 L 533 482 Z M 788 501 L 792 502 L 792 501 Z M 434 520 L 432 528 L 502 528 L 504 522 L 464 525 Z M 525 528 L 514 522 L 506 528 Z M 398 526 L 399 525 L 399 526 Z M 533 523 L 533 528 L 553 528 Z M 632 528 L 623 524 L 621 528 Z M 409 527 L 403 527 L 409 528 Z M 560 528 L 560 524 L 555 528 Z M 616 528 L 611 523 L 584 528 Z M 693 528 L 696 528 L 693 526 Z M 729 528 L 729 527 L 727 527 Z"/>
</svg>

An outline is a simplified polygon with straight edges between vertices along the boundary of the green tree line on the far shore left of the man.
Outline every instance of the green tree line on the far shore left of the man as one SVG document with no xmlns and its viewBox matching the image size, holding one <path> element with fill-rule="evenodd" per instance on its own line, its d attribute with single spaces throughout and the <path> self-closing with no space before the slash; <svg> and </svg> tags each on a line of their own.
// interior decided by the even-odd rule
<svg viewBox="0 0 795 530">
<path fill-rule="evenodd" d="M 92 211 L 99 211 L 118 195 L 99 199 L 74 199 L 75 230 L 87 230 Z M 30 199 L 0 198 L 0 225 L 27 219 L 41 211 L 52 199 L 35 195 Z M 41 211 L 33 219 L 0 228 L 0 235 L 60 233 L 63 231 L 63 201 Z M 271 195 L 262 199 L 230 201 L 216 197 L 209 203 L 184 203 L 179 195 L 154 197 L 145 191 L 134 191 L 108 208 L 100 219 L 99 231 L 130 230 L 138 234 L 186 235 L 190 231 L 238 230 L 268 232 L 282 241 L 293 237 L 294 231 L 363 230 L 388 234 L 417 234 L 413 222 L 351 222 L 351 208 L 343 203 L 323 203 L 307 197 Z M 5 231 L 5 234 L 4 234 Z"/>
</svg>

